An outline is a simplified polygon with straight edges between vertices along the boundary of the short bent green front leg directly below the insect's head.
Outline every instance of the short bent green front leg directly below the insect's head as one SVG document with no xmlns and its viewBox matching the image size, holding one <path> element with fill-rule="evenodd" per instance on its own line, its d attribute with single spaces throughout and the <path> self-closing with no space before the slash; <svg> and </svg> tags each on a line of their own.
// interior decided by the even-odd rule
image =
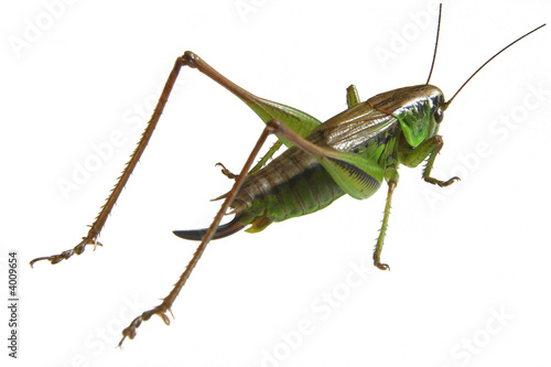
<svg viewBox="0 0 551 367">
<path fill-rule="evenodd" d="M 434 160 L 436 159 L 436 154 L 444 147 L 444 140 L 442 140 L 441 136 L 434 136 L 429 140 L 423 141 L 417 148 L 406 148 L 401 149 L 398 153 L 398 158 L 400 163 L 415 168 L 421 164 L 426 158 L 426 165 L 423 171 L 423 180 L 433 185 L 439 185 L 440 187 L 449 186 L 455 181 L 460 181 L 461 179 L 457 176 L 453 176 L 447 181 L 437 180 L 431 177 L 432 166 L 434 165 Z"/>
</svg>

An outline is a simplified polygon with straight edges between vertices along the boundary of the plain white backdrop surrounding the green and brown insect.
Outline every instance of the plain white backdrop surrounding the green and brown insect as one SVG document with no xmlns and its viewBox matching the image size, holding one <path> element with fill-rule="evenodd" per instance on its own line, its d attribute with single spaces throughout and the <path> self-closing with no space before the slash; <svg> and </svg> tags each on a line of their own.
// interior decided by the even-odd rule
<svg viewBox="0 0 551 367">
<path fill-rule="evenodd" d="M 85 236 L 139 139 L 129 118 L 156 98 L 175 57 L 192 50 L 248 90 L 325 120 L 346 108 L 352 83 L 363 99 L 424 83 L 436 17 L 423 29 L 415 24 L 425 1 L 244 1 L 255 7 L 245 18 L 233 0 L 76 1 L 15 52 L 10 40 L 24 40 L 30 23 L 47 18 L 44 3 L 51 2 L 4 2 L 0 11 L 2 296 L 9 249 L 20 253 L 21 287 L 20 358 L 7 357 L 2 306 L 2 360 L 549 366 L 551 95 L 523 107 L 538 101 L 530 86 L 551 89 L 549 26 L 490 63 L 445 112 L 434 173 L 449 179 L 463 170 L 460 183 L 440 191 L 420 180 L 421 168 L 400 170 L 382 252 L 390 272 L 370 266 L 386 188 L 365 202 L 342 198 L 263 233 L 210 244 L 172 324 L 152 319 L 121 352 L 121 328 L 169 293 L 195 249 L 171 231 L 206 227 L 219 205 L 208 199 L 230 187 L 214 164 L 239 171 L 260 134 L 253 112 L 196 71 L 182 71 L 101 234 L 105 247 L 56 266 L 28 263 Z M 431 83 L 451 97 L 549 14 L 544 0 L 446 2 Z M 375 51 L 391 51 L 396 34 L 408 31 L 403 50 L 381 63 Z M 522 111 L 528 116 L 515 130 L 500 130 L 507 136 L 489 130 L 500 116 Z M 93 144 L 114 131 L 125 144 L 64 197 L 58 181 L 73 180 L 75 164 L 90 160 Z M 462 163 L 480 143 L 489 153 Z M 441 199 L 431 206 L 426 197 L 435 194 Z M 350 263 L 367 265 L 365 280 Z M 333 292 L 339 304 L 323 309 L 331 310 L 323 319 L 320 298 Z M 311 333 L 284 342 L 301 320 Z"/>
</svg>

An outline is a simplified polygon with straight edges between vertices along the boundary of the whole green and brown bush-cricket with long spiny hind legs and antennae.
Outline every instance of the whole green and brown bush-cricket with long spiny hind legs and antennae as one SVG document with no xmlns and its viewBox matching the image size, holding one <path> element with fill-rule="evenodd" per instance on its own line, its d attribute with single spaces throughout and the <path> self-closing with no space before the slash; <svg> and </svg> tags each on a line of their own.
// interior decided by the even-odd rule
<svg viewBox="0 0 551 367">
<path fill-rule="evenodd" d="M 73 249 L 36 258 L 31 261 L 31 266 L 40 260 L 58 263 L 75 253 L 83 253 L 87 245 L 101 246 L 98 242 L 101 228 L 148 145 L 180 71 L 188 66 L 198 69 L 236 95 L 262 119 L 266 128 L 239 174 L 233 174 L 220 164 L 223 173 L 234 179 L 235 183 L 227 194 L 218 197 L 224 199 L 224 203 L 210 226 L 207 229 L 174 231 L 179 237 L 201 240 L 201 245 L 171 293 L 161 304 L 143 312 L 123 330 L 119 346 L 126 337 L 133 338 L 141 323 L 154 314 L 170 324 L 166 313 L 171 311 L 172 304 L 212 239 L 233 235 L 245 227 L 248 227 L 245 229 L 248 233 L 258 233 L 274 222 L 323 209 L 345 194 L 357 199 L 367 198 L 379 190 L 383 181 L 388 184 L 388 194 L 374 251 L 374 265 L 387 270 L 389 266 L 381 262 L 381 251 L 392 193 L 399 180 L 399 165 L 415 168 L 426 161 L 423 180 L 428 183 L 447 186 L 458 181 L 456 176 L 443 181 L 431 175 L 436 155 L 443 147 L 443 139 L 437 131 L 444 110 L 487 63 L 543 25 L 501 48 L 473 73 L 446 101 L 442 90 L 429 84 L 440 34 L 439 17 L 436 46 L 425 84 L 385 91 L 363 102 L 356 87 L 350 85 L 346 91 L 348 109 L 323 123 L 293 107 L 252 95 L 219 74 L 199 56 L 186 51 L 176 60 L 137 149 L 86 237 Z M 278 142 L 253 165 L 258 152 L 270 134 L 276 134 Z M 288 150 L 272 159 L 282 145 Z M 270 159 L 272 160 L 269 161 Z M 234 218 L 220 225 L 223 217 L 228 214 L 233 214 Z"/>
</svg>

